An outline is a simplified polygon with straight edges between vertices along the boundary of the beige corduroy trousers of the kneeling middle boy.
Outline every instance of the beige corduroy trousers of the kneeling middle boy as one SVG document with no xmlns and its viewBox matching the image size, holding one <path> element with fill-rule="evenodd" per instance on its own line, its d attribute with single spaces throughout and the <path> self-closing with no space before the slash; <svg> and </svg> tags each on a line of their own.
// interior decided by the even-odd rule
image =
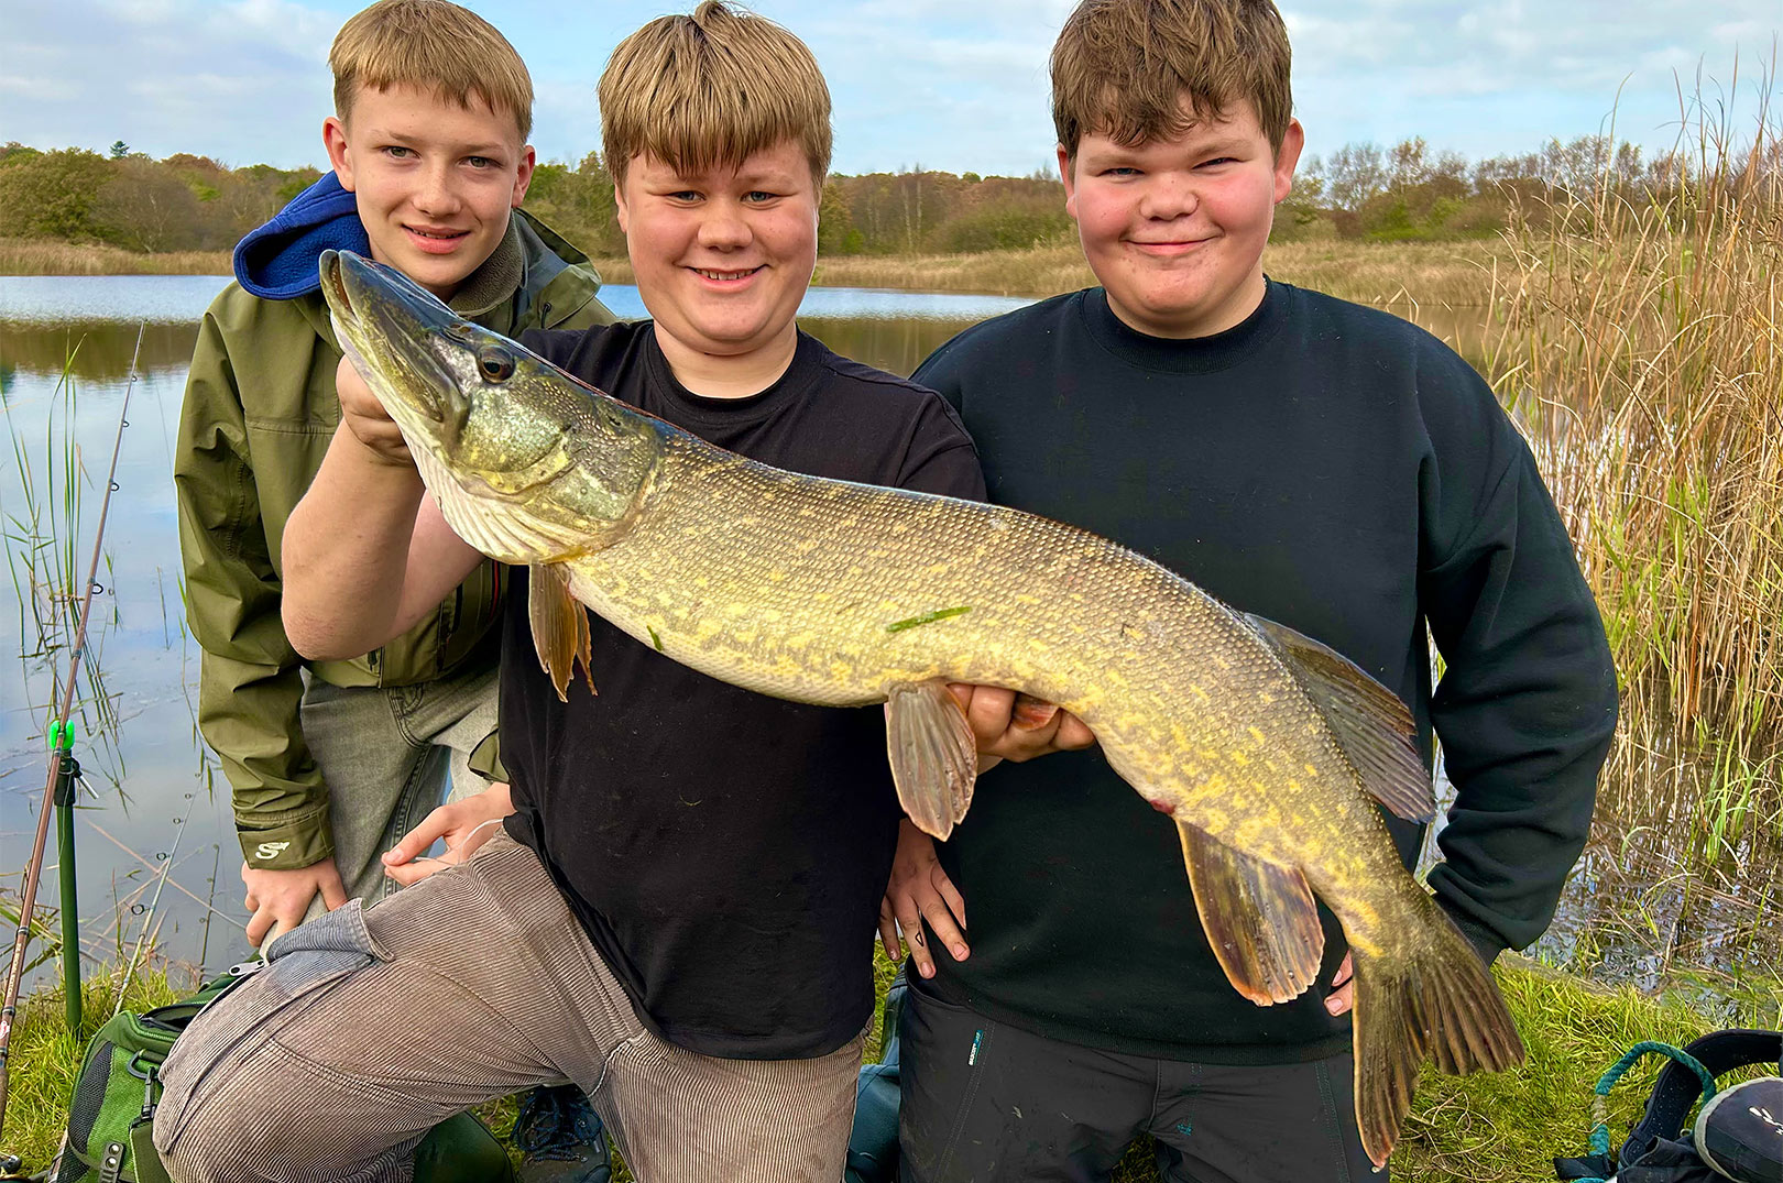
<svg viewBox="0 0 1783 1183">
<path fill-rule="evenodd" d="M 314 919 L 168 1057 L 155 1146 L 178 1183 L 408 1179 L 451 1114 L 572 1081 L 640 1183 L 834 1183 L 861 1039 L 726 1060 L 644 1028 L 538 857 L 462 868 Z"/>
</svg>

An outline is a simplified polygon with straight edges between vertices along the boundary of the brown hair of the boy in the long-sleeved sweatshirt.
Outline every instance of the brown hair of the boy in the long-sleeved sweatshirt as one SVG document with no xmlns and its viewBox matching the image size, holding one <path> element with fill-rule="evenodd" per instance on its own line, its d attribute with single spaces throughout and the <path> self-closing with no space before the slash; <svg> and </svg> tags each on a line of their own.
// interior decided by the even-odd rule
<svg viewBox="0 0 1783 1183">
<path fill-rule="evenodd" d="M 1280 151 L 1294 110 L 1289 61 L 1269 0 L 1082 0 L 1052 46 L 1052 123 L 1075 159 L 1091 132 L 1139 144 L 1248 100 Z"/>
</svg>

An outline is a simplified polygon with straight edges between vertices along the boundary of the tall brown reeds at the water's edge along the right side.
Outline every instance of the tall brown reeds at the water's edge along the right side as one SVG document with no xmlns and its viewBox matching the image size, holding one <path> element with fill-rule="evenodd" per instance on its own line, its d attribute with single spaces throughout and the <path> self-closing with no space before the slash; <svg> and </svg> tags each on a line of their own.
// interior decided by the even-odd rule
<svg viewBox="0 0 1783 1183">
<path fill-rule="evenodd" d="M 1512 226 L 1487 353 L 1621 675 L 1599 841 L 1762 903 L 1783 855 L 1783 141 L 1769 112 L 1738 146 L 1694 132 L 1656 185 Z"/>
</svg>

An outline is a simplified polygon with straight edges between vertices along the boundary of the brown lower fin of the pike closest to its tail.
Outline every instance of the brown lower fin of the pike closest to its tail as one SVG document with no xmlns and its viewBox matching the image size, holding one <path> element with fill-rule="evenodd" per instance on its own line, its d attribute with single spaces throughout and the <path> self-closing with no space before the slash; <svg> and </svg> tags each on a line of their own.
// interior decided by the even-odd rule
<svg viewBox="0 0 1783 1183">
<path fill-rule="evenodd" d="M 1195 910 L 1227 982 L 1269 1007 L 1298 998 L 1319 975 L 1325 932 L 1305 877 L 1252 859 L 1205 832 L 1177 823 Z"/>
</svg>

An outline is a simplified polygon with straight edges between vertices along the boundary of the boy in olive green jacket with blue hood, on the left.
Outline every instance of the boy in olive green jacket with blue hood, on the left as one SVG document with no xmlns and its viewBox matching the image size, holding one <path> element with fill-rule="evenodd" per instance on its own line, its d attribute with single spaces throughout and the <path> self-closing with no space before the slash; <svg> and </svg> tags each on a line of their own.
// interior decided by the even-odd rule
<svg viewBox="0 0 1783 1183">
<path fill-rule="evenodd" d="M 349 896 L 455 789 L 494 730 L 501 572 L 353 661 L 305 663 L 280 624 L 280 536 L 341 419 L 341 347 L 317 285 L 326 248 L 392 264 L 506 335 L 612 321 L 587 257 L 517 207 L 533 171 L 531 80 L 514 48 L 444 0 L 382 0 L 330 53 L 333 171 L 235 249 L 205 314 L 175 488 L 198 723 L 234 787 L 248 939 Z"/>
</svg>

